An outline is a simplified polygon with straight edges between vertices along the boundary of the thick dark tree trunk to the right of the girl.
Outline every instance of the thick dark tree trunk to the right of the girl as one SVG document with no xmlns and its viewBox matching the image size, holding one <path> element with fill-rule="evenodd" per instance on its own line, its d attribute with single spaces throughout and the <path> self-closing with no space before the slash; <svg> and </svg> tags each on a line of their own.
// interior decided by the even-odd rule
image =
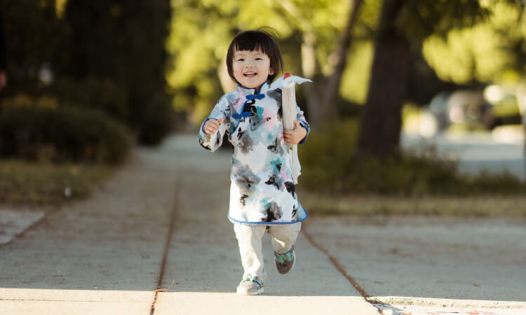
<svg viewBox="0 0 526 315">
<path fill-rule="evenodd" d="M 382 7 L 358 153 L 384 157 L 398 151 L 411 48 L 394 25 L 402 7 L 403 0 L 385 0 Z"/>
</svg>

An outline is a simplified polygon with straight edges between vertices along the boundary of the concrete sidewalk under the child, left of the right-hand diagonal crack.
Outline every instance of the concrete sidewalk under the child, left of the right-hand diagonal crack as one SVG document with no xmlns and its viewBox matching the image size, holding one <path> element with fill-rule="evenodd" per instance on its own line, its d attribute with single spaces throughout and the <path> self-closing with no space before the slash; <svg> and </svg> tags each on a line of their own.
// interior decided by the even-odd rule
<svg viewBox="0 0 526 315">
<path fill-rule="evenodd" d="M 139 149 L 89 200 L 0 247 L 0 314 L 378 314 L 303 236 L 285 276 L 266 238 L 265 294 L 234 293 L 229 161 L 193 136 Z"/>
</svg>

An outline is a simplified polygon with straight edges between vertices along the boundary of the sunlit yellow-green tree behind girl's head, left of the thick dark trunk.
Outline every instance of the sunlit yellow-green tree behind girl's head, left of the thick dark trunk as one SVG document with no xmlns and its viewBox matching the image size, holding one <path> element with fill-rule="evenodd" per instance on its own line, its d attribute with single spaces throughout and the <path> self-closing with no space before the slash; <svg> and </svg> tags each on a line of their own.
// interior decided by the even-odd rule
<svg viewBox="0 0 526 315">
<path fill-rule="evenodd" d="M 339 94 L 351 46 L 350 30 L 361 1 L 181 0 L 172 3 L 173 32 L 168 48 L 173 56 L 173 70 L 168 74 L 168 82 L 174 90 L 175 107 L 184 110 L 192 106 L 195 123 L 208 115 L 221 92 L 233 88 L 224 65 L 231 38 L 238 31 L 264 26 L 278 31 L 285 71 L 313 78 L 313 85 L 306 88 L 312 92 L 306 98 L 309 121 L 321 126 L 325 116 L 335 112 L 330 99 Z M 334 78 L 330 80 L 332 75 Z M 305 99 L 302 95 L 298 97 Z M 322 104 L 324 99 L 329 99 L 326 101 L 329 104 Z"/>
</svg>

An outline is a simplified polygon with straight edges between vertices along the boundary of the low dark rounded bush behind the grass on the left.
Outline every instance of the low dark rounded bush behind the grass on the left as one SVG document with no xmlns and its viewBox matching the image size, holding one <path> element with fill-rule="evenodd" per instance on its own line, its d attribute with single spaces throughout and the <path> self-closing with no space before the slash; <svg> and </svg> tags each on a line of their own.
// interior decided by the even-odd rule
<svg viewBox="0 0 526 315">
<path fill-rule="evenodd" d="M 0 157 L 49 162 L 121 162 L 126 127 L 97 111 L 7 106 L 0 114 Z"/>
</svg>

